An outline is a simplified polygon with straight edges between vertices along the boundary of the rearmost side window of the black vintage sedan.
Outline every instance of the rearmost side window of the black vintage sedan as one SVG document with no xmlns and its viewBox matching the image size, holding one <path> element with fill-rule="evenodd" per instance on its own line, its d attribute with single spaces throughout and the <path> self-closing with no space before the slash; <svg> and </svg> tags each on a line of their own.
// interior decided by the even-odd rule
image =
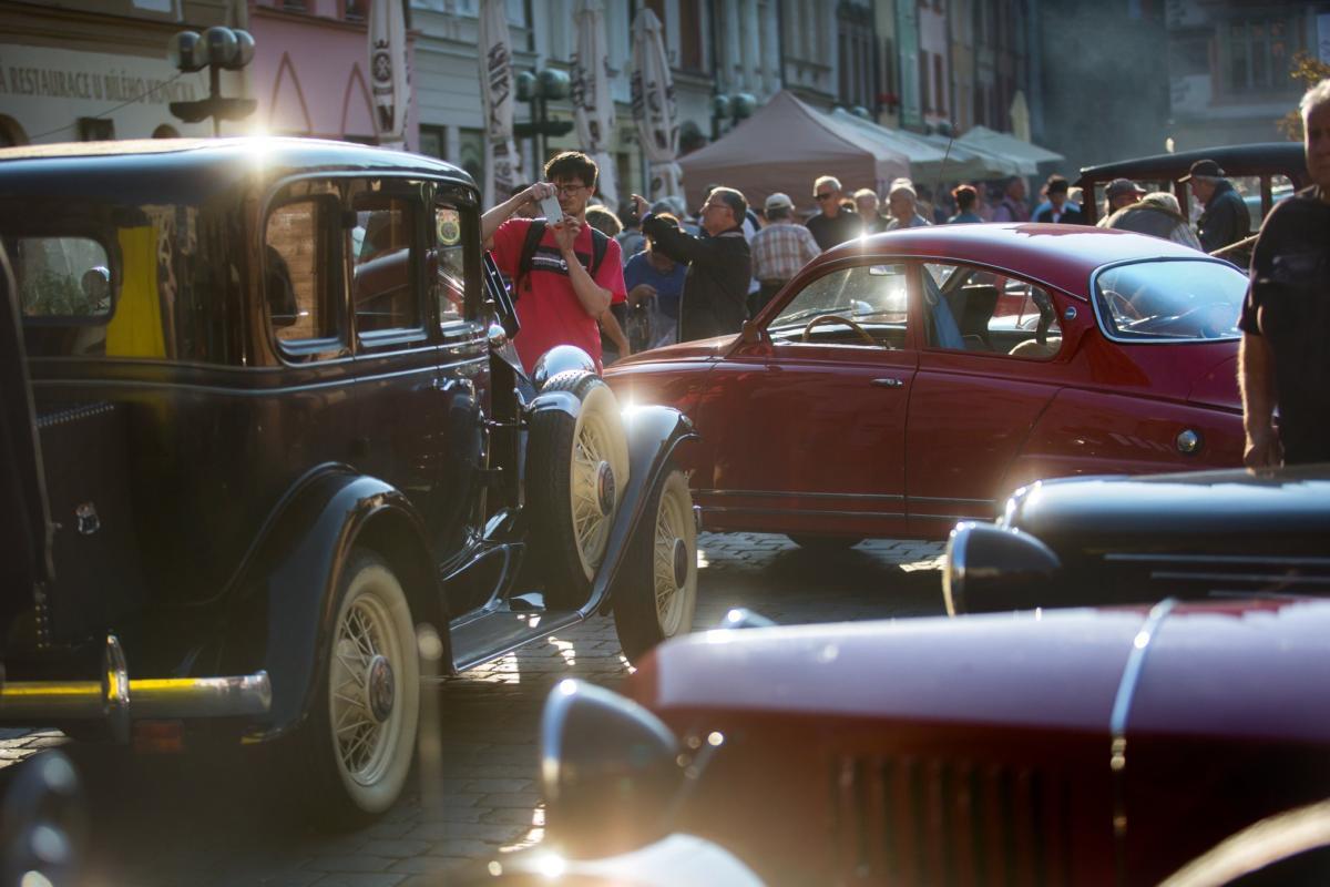
<svg viewBox="0 0 1330 887">
<path fill-rule="evenodd" d="M 275 206 L 263 229 L 263 298 L 273 335 L 286 356 L 311 356 L 340 344 L 340 257 L 335 198 L 311 197 Z M 336 350 L 336 348 L 335 348 Z"/>
</svg>

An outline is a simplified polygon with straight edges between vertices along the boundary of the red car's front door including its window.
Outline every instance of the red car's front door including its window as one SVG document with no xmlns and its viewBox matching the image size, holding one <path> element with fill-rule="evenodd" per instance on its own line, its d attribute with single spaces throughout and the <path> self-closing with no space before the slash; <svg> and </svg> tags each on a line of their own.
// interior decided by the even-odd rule
<svg viewBox="0 0 1330 887">
<path fill-rule="evenodd" d="M 879 259 L 880 262 L 880 259 Z M 916 355 L 904 265 L 839 265 L 767 313 L 761 340 L 708 376 L 693 484 L 705 523 L 834 536 L 904 529 L 904 427 Z"/>
</svg>

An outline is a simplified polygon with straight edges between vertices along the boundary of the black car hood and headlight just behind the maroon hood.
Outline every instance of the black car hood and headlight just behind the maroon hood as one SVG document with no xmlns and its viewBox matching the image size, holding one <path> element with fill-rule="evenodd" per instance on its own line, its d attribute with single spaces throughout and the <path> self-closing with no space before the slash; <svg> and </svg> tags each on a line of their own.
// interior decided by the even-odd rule
<svg viewBox="0 0 1330 887">
<path fill-rule="evenodd" d="M 950 613 L 1330 593 L 1330 465 L 1068 477 L 947 543 Z"/>
</svg>

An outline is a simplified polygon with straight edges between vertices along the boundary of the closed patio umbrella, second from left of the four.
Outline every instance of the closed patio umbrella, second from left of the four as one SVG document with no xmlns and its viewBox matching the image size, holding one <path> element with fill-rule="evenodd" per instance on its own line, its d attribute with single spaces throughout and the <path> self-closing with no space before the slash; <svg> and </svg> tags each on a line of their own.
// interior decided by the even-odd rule
<svg viewBox="0 0 1330 887">
<path fill-rule="evenodd" d="M 485 206 L 508 199 L 517 184 L 512 141 L 512 44 L 508 4 L 484 0 L 480 9 L 480 97 L 485 109 Z"/>
</svg>

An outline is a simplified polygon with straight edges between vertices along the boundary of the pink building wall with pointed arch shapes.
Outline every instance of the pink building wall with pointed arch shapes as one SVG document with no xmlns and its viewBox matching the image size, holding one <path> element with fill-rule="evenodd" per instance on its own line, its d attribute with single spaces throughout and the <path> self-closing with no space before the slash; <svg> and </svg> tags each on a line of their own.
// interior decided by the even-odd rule
<svg viewBox="0 0 1330 887">
<path fill-rule="evenodd" d="M 344 5 L 346 0 L 305 0 L 303 12 L 289 12 L 282 0 L 250 1 L 249 27 L 255 44 L 250 94 L 258 100 L 255 122 L 267 133 L 375 141 L 368 29 L 363 20 L 347 20 Z M 364 7 L 367 12 L 368 4 Z M 410 37 L 407 66 L 414 66 Z M 408 150 L 419 144 L 418 132 L 412 90 Z"/>
</svg>

